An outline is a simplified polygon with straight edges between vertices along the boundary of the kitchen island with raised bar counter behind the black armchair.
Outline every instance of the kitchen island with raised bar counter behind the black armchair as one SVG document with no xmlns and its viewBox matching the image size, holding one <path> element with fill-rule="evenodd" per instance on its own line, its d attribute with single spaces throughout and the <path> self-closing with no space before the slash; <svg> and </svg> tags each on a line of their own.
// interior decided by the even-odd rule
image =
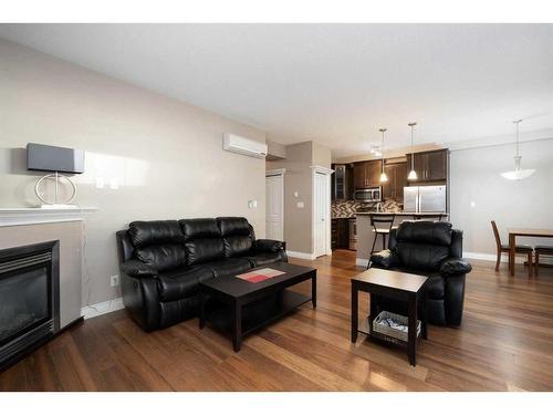
<svg viewBox="0 0 553 415">
<path fill-rule="evenodd" d="M 356 264 L 366 267 L 368 263 L 368 259 L 371 258 L 371 248 L 373 247 L 373 241 L 376 234 L 373 231 L 373 226 L 371 225 L 371 215 L 395 215 L 394 225 L 399 226 L 404 220 L 413 220 L 414 216 L 424 217 L 432 217 L 436 215 L 444 215 L 442 220 L 448 219 L 448 214 L 444 212 L 413 212 L 413 211 L 357 211 L 357 260 Z M 387 243 L 387 238 L 386 238 Z M 387 247 L 386 247 L 387 248 Z M 382 246 L 382 237 L 378 237 L 378 240 L 375 245 L 375 251 L 379 251 L 383 249 Z"/>
</svg>

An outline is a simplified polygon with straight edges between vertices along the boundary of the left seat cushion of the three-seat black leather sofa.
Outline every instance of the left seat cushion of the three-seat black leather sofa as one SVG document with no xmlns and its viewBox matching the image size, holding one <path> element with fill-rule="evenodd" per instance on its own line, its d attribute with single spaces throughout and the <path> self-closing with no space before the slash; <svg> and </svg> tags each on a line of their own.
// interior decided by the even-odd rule
<svg viewBox="0 0 553 415">
<path fill-rule="evenodd" d="M 200 291 L 200 282 L 213 278 L 208 267 L 177 269 L 157 277 L 160 301 L 175 301 L 195 295 Z"/>
</svg>

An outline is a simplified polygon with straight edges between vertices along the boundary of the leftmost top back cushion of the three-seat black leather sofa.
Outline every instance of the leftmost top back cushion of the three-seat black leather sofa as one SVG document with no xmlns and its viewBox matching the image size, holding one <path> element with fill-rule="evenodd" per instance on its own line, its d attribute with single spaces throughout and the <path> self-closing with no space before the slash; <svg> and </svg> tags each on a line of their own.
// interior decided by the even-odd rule
<svg viewBox="0 0 553 415">
<path fill-rule="evenodd" d="M 182 231 L 176 220 L 135 220 L 128 225 L 128 236 L 136 248 L 184 242 Z"/>
</svg>

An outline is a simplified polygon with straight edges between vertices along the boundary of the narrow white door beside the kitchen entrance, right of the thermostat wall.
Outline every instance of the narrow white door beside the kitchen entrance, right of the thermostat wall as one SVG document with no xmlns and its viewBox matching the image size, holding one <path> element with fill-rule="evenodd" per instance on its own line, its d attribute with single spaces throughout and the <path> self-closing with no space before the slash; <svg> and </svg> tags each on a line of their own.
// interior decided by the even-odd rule
<svg viewBox="0 0 553 415">
<path fill-rule="evenodd" d="M 315 194 L 314 201 L 314 253 L 315 257 L 326 255 L 328 243 L 327 228 L 330 227 L 330 193 L 328 193 L 328 176 L 315 173 Z"/>
</svg>

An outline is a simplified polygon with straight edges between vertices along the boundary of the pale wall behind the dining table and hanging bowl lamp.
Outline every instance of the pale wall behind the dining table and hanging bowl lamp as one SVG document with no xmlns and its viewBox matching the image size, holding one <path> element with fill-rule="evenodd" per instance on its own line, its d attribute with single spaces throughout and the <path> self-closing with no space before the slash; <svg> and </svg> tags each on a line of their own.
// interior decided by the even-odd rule
<svg viewBox="0 0 553 415">
<path fill-rule="evenodd" d="M 509 242 L 510 227 L 553 229 L 553 138 L 522 143 L 520 148 L 522 168 L 536 169 L 520 181 L 500 176 L 514 167 L 514 144 L 451 152 L 451 221 L 465 232 L 465 252 L 495 253 L 492 219 L 503 243 Z M 517 242 L 553 245 L 551 239 Z"/>
</svg>

